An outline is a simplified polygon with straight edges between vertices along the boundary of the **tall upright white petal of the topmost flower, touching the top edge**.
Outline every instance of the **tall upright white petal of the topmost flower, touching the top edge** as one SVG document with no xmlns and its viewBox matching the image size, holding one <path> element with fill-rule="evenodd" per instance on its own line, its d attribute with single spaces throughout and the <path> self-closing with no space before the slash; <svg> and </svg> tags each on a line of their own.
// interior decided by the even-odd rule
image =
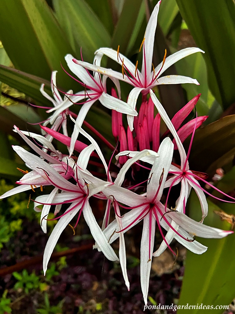
<svg viewBox="0 0 235 314">
<path fill-rule="evenodd" d="M 154 37 L 155 37 L 155 31 L 157 27 L 157 19 L 158 19 L 158 11 L 159 11 L 159 5 L 161 1 L 157 3 L 157 5 L 154 7 L 154 10 L 150 16 L 148 25 L 145 30 L 144 34 L 144 49 L 143 49 L 143 61 L 142 61 L 142 75 L 147 76 L 147 84 L 152 79 L 151 75 L 151 68 L 152 68 L 152 60 L 153 60 L 153 52 L 154 52 Z M 146 71 L 146 73 L 145 73 Z M 156 72 L 157 73 L 157 72 Z"/>
</svg>

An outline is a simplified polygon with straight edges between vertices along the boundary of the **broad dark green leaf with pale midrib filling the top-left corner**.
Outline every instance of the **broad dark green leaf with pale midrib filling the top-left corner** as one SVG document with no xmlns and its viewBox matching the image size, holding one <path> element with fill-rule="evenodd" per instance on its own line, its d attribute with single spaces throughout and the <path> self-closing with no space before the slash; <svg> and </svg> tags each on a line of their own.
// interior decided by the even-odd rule
<svg viewBox="0 0 235 314">
<path fill-rule="evenodd" d="M 65 54 L 73 51 L 46 1 L 2 0 L 0 20 L 0 37 L 15 68 L 46 79 L 57 69 L 58 83 L 71 88 L 60 62 L 65 65 Z"/>
</svg>

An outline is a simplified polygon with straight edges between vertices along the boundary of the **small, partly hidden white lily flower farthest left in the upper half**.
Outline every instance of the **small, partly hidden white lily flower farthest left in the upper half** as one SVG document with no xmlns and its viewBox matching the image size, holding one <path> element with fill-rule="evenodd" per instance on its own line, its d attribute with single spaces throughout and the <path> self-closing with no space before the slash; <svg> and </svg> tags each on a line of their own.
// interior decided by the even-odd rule
<svg viewBox="0 0 235 314">
<path fill-rule="evenodd" d="M 68 136 L 67 115 L 70 113 L 68 108 L 77 101 L 83 100 L 86 95 L 84 95 L 83 91 L 77 93 L 76 95 L 73 95 L 73 91 L 69 90 L 67 93 L 65 93 L 64 99 L 62 99 L 56 85 L 56 73 L 57 71 L 53 71 L 51 74 L 51 91 L 54 96 L 54 99 L 44 91 L 45 84 L 42 84 L 40 87 L 40 92 L 42 93 L 42 95 L 48 100 L 50 100 L 53 104 L 52 108 L 49 109 L 48 107 L 41 108 L 48 109 L 46 111 L 47 113 L 54 111 L 54 113 L 43 123 L 43 125 L 46 126 L 48 125 L 48 123 L 50 123 L 52 125 L 51 129 L 55 131 L 57 131 L 60 128 L 60 126 L 62 126 L 63 133 Z M 52 142 L 53 140 L 53 137 L 50 135 L 46 135 L 46 138 L 50 142 Z"/>
</svg>

